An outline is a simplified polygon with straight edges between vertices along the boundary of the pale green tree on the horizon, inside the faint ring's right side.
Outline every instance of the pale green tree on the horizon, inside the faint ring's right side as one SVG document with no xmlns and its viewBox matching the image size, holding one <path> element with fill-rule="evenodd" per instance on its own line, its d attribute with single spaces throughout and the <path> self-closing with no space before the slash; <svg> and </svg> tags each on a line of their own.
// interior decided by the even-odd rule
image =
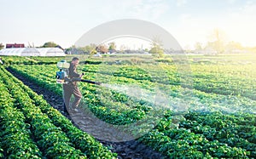
<svg viewBox="0 0 256 159">
<path fill-rule="evenodd" d="M 149 50 L 149 53 L 158 58 L 164 56 L 164 49 L 162 47 L 162 44 L 161 44 L 161 41 L 159 38 L 154 37 L 152 39 L 151 48 Z"/>
</svg>

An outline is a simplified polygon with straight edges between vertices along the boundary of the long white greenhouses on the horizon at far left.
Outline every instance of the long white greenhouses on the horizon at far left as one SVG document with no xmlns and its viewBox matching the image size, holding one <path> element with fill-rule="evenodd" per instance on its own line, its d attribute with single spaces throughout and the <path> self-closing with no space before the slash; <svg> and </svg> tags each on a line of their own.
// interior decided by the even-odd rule
<svg viewBox="0 0 256 159">
<path fill-rule="evenodd" d="M 65 56 L 61 48 L 3 48 L 0 55 L 9 56 Z"/>
</svg>

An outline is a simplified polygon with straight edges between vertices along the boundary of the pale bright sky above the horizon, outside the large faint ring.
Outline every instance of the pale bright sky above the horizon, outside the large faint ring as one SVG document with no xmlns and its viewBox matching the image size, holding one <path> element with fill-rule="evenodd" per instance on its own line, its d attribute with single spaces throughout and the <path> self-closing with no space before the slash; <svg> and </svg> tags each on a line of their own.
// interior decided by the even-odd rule
<svg viewBox="0 0 256 159">
<path fill-rule="evenodd" d="M 207 43 L 214 29 L 227 41 L 256 46 L 256 0 L 0 0 L 0 43 L 69 48 L 112 20 L 147 20 L 183 48 Z"/>
</svg>

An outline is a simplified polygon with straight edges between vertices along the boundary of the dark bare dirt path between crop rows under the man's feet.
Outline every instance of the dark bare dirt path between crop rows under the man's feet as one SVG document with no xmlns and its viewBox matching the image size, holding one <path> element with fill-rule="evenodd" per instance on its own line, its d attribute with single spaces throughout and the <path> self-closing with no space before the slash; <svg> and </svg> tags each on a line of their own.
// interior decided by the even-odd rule
<svg viewBox="0 0 256 159">
<path fill-rule="evenodd" d="M 79 112 L 69 113 L 69 114 L 64 113 L 62 98 L 59 95 L 54 94 L 49 90 L 38 87 L 37 84 L 27 80 L 25 77 L 18 75 L 17 73 L 15 73 L 14 71 L 11 71 L 10 69 L 7 69 L 7 70 L 11 72 L 15 77 L 20 79 L 20 81 L 22 81 L 24 84 L 26 84 L 26 86 L 28 86 L 29 88 L 32 88 L 34 92 L 36 92 L 37 94 L 43 94 L 44 99 L 46 99 L 48 103 L 52 105 L 55 109 L 57 109 L 58 111 L 61 111 L 62 115 L 66 116 L 68 119 L 73 121 L 73 124 L 75 126 L 82 129 L 86 133 L 90 133 L 91 135 L 93 135 L 103 145 L 111 147 L 111 150 L 113 152 L 116 152 L 120 159 L 121 158 L 127 158 L 127 159 L 128 158 L 134 158 L 134 159 L 163 158 L 163 156 L 161 156 L 160 153 L 152 150 L 146 145 L 143 145 L 142 143 L 138 142 L 136 139 L 133 139 L 130 141 L 124 141 L 124 142 L 113 142 L 114 140 L 119 141 L 118 139 L 119 136 L 123 138 L 129 138 L 130 136 L 129 134 L 119 132 L 114 128 L 106 128 L 106 126 L 104 125 L 105 123 L 97 119 L 95 116 L 92 116 L 90 112 L 88 113 L 86 111 L 84 113 L 83 111 L 83 113 L 79 113 Z M 104 135 L 104 140 L 102 140 L 102 135 Z"/>
</svg>

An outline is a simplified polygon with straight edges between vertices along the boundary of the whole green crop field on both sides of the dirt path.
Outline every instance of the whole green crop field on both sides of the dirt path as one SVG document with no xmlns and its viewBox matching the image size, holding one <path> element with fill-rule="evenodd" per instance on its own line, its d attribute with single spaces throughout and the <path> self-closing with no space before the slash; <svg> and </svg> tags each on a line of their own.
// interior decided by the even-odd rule
<svg viewBox="0 0 256 159">
<path fill-rule="evenodd" d="M 141 56 L 86 58 L 79 72 L 102 86 L 80 82 L 86 103 L 80 106 L 117 127 L 154 118 L 151 111 L 162 113 L 157 125 L 136 140 L 163 158 L 256 158 L 255 57 L 190 55 L 186 64 L 172 59 L 152 63 Z M 0 157 L 119 156 L 9 73 L 61 98 L 61 85 L 55 82 L 58 60 L 5 59 L 0 70 Z M 158 104 L 158 94 L 166 101 Z M 130 131 L 137 135 L 136 129 Z"/>
</svg>

